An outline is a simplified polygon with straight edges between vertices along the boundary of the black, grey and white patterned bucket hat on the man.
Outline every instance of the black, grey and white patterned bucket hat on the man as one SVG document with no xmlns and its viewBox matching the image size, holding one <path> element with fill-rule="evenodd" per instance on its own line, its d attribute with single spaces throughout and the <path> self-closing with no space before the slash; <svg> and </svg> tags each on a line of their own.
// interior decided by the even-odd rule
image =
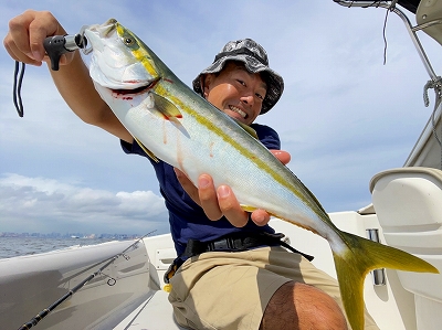
<svg viewBox="0 0 442 330">
<path fill-rule="evenodd" d="M 284 79 L 269 67 L 267 53 L 252 39 L 228 42 L 214 57 L 213 63 L 193 79 L 193 91 L 204 96 L 201 87 L 201 76 L 208 73 L 220 72 L 228 61 L 243 62 L 250 73 L 266 73 L 265 83 L 267 84 L 267 91 L 260 115 L 267 113 L 283 94 Z"/>
</svg>

